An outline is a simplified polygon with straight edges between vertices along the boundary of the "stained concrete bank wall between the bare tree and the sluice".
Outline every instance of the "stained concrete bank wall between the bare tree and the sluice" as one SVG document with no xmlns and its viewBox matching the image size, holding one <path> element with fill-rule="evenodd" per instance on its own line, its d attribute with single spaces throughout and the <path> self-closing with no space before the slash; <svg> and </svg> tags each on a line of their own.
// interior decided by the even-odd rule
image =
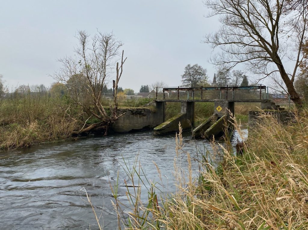
<svg viewBox="0 0 308 230">
<path fill-rule="evenodd" d="M 118 114 L 123 114 L 112 126 L 116 133 L 126 133 L 141 129 L 151 129 L 161 124 L 164 120 L 162 109 L 148 108 L 120 108 Z"/>
</svg>

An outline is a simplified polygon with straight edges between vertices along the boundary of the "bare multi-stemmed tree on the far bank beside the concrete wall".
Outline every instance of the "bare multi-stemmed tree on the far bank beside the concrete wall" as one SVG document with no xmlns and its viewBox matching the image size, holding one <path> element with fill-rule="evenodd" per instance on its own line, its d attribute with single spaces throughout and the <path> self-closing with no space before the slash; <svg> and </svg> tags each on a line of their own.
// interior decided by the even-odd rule
<svg viewBox="0 0 308 230">
<path fill-rule="evenodd" d="M 120 57 L 122 43 L 113 34 L 98 32 L 90 37 L 85 31 L 77 31 L 78 46 L 75 48 L 75 57 L 59 59 L 62 68 L 54 74 L 54 79 L 67 84 L 69 93 L 75 104 L 85 111 L 88 116 L 94 116 L 101 122 L 86 127 L 82 131 L 96 129 L 98 126 L 106 128 L 118 119 L 117 101 L 111 105 L 112 115 L 108 116 L 101 103 L 102 91 L 107 79 L 114 72 L 116 64 L 115 95 L 118 82 L 123 72 L 126 59 L 122 52 L 121 64 L 117 63 Z M 113 106 L 113 107 L 112 107 Z"/>
</svg>

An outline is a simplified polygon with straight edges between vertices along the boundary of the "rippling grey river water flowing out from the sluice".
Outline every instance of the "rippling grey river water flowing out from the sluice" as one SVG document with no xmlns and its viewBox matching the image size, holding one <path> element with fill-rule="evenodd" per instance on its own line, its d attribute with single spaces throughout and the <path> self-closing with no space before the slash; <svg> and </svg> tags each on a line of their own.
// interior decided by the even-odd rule
<svg viewBox="0 0 308 230">
<path fill-rule="evenodd" d="M 247 130 L 244 129 L 247 133 Z M 206 140 L 184 133 L 184 149 L 196 157 L 196 146 L 211 152 Z M 233 145 L 237 133 L 233 134 Z M 97 229 L 85 192 L 101 216 L 103 229 L 116 229 L 110 184 L 119 172 L 120 201 L 127 200 L 121 165 L 132 165 L 136 156 L 148 179 L 174 191 L 174 135 L 155 137 L 151 131 L 115 134 L 76 141 L 33 146 L 0 153 L 0 229 Z M 182 167 L 187 167 L 183 160 Z M 197 163 L 193 161 L 197 169 Z"/>
</svg>

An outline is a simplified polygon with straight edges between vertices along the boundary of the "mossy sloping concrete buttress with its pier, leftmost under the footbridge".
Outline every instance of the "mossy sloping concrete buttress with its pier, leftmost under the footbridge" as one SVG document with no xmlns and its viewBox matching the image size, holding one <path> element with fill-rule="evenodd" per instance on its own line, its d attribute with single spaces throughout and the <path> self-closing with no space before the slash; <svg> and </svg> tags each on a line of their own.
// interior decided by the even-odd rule
<svg viewBox="0 0 308 230">
<path fill-rule="evenodd" d="M 176 116 L 170 118 L 168 121 L 158 125 L 154 128 L 154 135 L 164 135 L 167 133 L 176 132 L 179 130 L 179 122 L 182 129 L 190 129 L 193 125 L 194 117 L 194 103 L 182 102 L 181 112 Z"/>
</svg>

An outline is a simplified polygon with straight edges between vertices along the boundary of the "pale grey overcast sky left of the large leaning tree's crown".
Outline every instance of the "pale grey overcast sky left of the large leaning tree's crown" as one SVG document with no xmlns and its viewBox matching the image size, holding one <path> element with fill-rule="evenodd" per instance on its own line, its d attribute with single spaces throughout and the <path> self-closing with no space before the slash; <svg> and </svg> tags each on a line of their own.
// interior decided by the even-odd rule
<svg viewBox="0 0 308 230">
<path fill-rule="evenodd" d="M 201 0 L 2 1 L 0 74 L 9 87 L 45 84 L 59 69 L 57 58 L 73 55 L 75 31 L 113 33 L 128 57 L 120 86 L 139 90 L 162 80 L 180 85 L 187 64 L 207 68 L 211 48 L 203 36 L 217 29 Z"/>
</svg>

